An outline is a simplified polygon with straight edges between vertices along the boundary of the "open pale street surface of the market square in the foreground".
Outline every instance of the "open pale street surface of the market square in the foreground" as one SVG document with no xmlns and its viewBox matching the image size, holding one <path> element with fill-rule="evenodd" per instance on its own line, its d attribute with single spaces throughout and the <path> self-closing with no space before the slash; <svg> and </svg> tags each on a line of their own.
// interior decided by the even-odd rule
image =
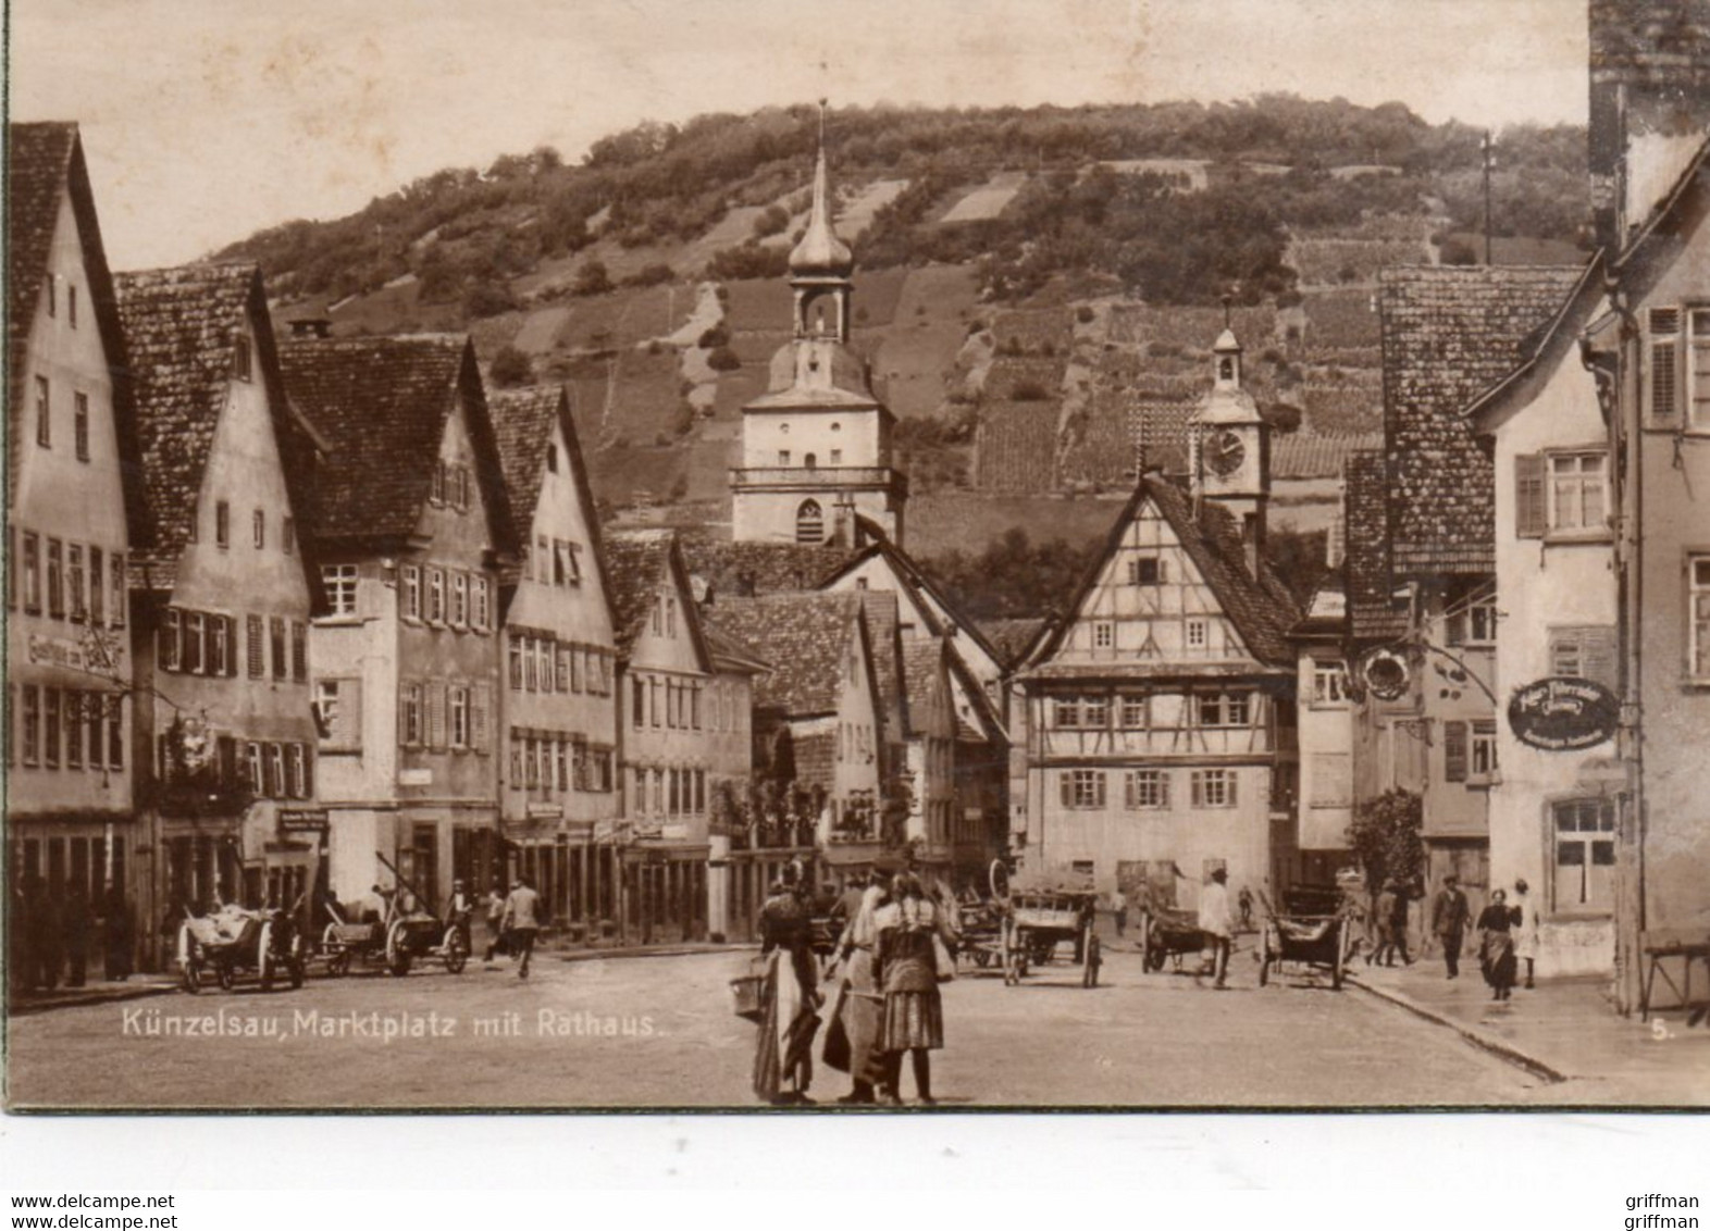
<svg viewBox="0 0 1710 1231">
<path fill-rule="evenodd" d="M 730 1014 L 725 988 L 746 963 L 547 957 L 527 983 L 472 966 L 58 1009 L 12 1021 L 10 1094 L 115 1108 L 752 1106 L 754 1028 Z M 1571 1099 L 1363 992 L 1305 976 L 1260 990 L 1245 952 L 1235 973 L 1221 995 L 1187 975 L 1144 975 L 1130 954 L 1112 954 L 1091 992 L 1069 966 L 1019 988 L 964 976 L 946 987 L 935 1093 L 952 1108 Z M 224 1034 L 169 1034 L 214 1016 Z M 821 1099 L 845 1089 L 841 1074 L 817 1074 Z"/>
</svg>

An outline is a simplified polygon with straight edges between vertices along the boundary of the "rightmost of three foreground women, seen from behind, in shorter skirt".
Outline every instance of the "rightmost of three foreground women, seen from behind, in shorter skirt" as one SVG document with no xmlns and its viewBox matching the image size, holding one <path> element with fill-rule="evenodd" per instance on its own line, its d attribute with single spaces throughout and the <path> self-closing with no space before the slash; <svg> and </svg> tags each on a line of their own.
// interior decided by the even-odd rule
<svg viewBox="0 0 1710 1231">
<path fill-rule="evenodd" d="M 877 915 L 877 980 L 884 990 L 879 1045 L 886 1057 L 891 1103 L 903 1101 L 903 1053 L 915 1063 L 915 1093 L 932 1106 L 932 1057 L 944 1046 L 944 1000 L 939 981 L 956 976 L 951 947 L 956 934 L 942 910 L 927 899 L 910 872 L 891 882 L 891 904 Z"/>
</svg>

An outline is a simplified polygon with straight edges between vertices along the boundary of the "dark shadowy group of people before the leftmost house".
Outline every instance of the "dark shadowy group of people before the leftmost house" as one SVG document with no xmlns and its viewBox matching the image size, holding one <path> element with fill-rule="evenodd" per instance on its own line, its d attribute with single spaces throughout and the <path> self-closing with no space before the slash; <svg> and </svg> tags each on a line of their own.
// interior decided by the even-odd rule
<svg viewBox="0 0 1710 1231">
<path fill-rule="evenodd" d="M 80 884 L 55 891 L 27 875 L 12 892 L 7 964 L 15 992 L 53 992 L 62 983 L 84 987 L 91 959 L 99 956 L 109 980 L 132 975 L 135 920 L 125 891 L 109 889 L 99 904 Z"/>
</svg>

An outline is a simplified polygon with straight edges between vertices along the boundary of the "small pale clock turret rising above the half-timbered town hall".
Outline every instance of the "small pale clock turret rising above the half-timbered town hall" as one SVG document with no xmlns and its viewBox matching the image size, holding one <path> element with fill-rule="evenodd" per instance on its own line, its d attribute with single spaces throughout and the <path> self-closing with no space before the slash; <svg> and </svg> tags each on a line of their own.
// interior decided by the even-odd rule
<svg viewBox="0 0 1710 1231">
<path fill-rule="evenodd" d="M 1271 426 L 1241 388 L 1241 344 L 1223 330 L 1211 349 L 1212 385 L 1188 419 L 1188 474 L 1195 506 L 1223 506 L 1241 530 L 1257 576 L 1271 504 Z"/>
</svg>

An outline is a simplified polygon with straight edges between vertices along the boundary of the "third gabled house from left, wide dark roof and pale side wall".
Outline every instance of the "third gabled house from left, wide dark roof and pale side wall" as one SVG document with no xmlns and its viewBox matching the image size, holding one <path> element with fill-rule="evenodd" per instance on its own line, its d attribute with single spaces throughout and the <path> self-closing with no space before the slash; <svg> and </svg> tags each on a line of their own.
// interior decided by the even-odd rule
<svg viewBox="0 0 1710 1231">
<path fill-rule="evenodd" d="M 280 357 L 327 443 L 308 539 L 330 882 L 342 901 L 402 884 L 438 910 L 453 877 L 504 867 L 499 581 L 520 544 L 475 352 L 409 335 Z"/>
</svg>

